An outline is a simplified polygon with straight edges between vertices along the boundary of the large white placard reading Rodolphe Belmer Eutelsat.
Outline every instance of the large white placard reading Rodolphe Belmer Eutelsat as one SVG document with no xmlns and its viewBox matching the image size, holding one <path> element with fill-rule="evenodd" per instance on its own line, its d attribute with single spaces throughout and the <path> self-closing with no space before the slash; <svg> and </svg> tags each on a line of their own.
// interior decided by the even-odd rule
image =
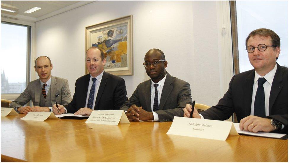
<svg viewBox="0 0 289 163">
<path fill-rule="evenodd" d="M 229 134 L 239 135 L 229 121 L 174 117 L 167 134 L 226 140 Z"/>
</svg>

